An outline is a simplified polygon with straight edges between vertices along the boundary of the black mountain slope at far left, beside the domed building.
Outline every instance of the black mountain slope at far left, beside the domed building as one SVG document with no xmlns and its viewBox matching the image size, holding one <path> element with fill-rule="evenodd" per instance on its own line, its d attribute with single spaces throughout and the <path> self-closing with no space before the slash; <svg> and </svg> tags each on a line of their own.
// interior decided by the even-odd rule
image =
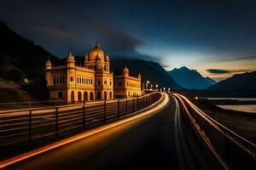
<svg viewBox="0 0 256 170">
<path fill-rule="evenodd" d="M 48 56 L 58 64 L 61 59 L 50 54 L 34 42 L 21 37 L 0 21 L 0 81 L 19 83 L 34 99 L 47 99 L 44 63 Z M 23 83 L 24 79 L 30 83 Z M 1 87 L 0 87 L 1 88 Z M 3 89 L 2 89 L 3 90 Z"/>
</svg>

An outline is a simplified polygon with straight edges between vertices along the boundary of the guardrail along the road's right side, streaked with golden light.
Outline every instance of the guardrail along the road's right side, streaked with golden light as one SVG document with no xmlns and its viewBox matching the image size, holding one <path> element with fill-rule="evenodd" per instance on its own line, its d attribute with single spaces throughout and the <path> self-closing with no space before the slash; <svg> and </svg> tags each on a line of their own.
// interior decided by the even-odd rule
<svg viewBox="0 0 256 170">
<path fill-rule="evenodd" d="M 190 124 L 212 156 L 224 169 L 256 166 L 256 145 L 216 122 L 183 95 L 174 94 L 184 106 Z"/>
</svg>

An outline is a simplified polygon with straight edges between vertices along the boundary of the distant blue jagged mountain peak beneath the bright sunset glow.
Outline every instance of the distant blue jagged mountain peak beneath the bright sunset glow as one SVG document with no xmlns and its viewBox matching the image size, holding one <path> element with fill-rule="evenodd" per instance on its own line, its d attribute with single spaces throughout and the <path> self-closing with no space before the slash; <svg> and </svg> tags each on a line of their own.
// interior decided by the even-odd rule
<svg viewBox="0 0 256 170">
<path fill-rule="evenodd" d="M 175 82 L 187 89 L 204 89 L 216 83 L 210 77 L 202 77 L 199 72 L 185 66 L 179 69 L 175 68 L 168 73 Z"/>
</svg>

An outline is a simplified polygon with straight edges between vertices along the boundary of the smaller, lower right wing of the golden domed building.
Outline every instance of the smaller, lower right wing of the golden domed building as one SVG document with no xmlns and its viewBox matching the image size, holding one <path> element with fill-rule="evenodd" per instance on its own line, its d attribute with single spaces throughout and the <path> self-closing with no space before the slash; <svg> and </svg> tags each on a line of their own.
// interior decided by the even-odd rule
<svg viewBox="0 0 256 170">
<path fill-rule="evenodd" d="M 123 74 L 113 78 L 114 95 L 117 98 L 140 96 L 142 95 L 141 82 L 141 74 L 139 73 L 137 77 L 131 77 L 128 68 L 125 66 Z"/>
</svg>

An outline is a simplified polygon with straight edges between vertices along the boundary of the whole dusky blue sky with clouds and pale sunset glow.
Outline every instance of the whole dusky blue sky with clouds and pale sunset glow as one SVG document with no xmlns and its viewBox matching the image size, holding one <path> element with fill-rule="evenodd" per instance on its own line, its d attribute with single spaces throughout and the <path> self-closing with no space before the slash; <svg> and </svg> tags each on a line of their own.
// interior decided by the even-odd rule
<svg viewBox="0 0 256 170">
<path fill-rule="evenodd" d="M 256 70 L 254 0 L 1 1 L 0 20 L 61 58 L 98 41 L 110 59 L 185 65 L 217 81 Z"/>
</svg>

